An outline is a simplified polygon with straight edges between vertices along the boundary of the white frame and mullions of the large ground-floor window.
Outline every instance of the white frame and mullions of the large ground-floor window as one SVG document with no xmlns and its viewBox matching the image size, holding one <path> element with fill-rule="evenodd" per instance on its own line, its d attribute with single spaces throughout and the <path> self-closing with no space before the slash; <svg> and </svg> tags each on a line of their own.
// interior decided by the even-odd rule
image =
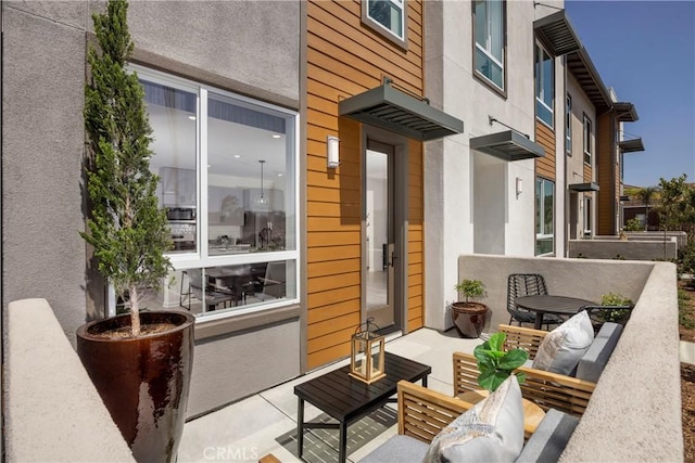
<svg viewBox="0 0 695 463">
<path fill-rule="evenodd" d="M 294 275 L 294 282 L 290 287 L 290 281 L 286 282 L 288 290 L 287 294 L 293 296 L 286 296 L 285 298 L 273 300 L 269 303 L 262 303 L 258 305 L 239 306 L 229 311 L 203 311 L 195 314 L 198 322 L 207 322 L 219 319 L 227 319 L 238 317 L 241 314 L 262 312 L 278 307 L 286 307 L 296 305 L 300 303 L 301 295 L 301 248 L 302 248 L 302 235 L 300 233 L 300 114 L 296 111 L 292 111 L 279 105 L 267 103 L 253 98 L 244 97 L 228 90 L 224 90 L 218 87 L 213 87 L 193 79 L 179 77 L 169 73 L 161 72 L 147 67 L 140 64 L 128 64 L 128 69 L 136 72 L 138 78 L 147 81 L 166 85 L 185 91 L 193 92 L 197 94 L 197 114 L 195 114 L 195 172 L 197 172 L 197 248 L 190 253 L 181 254 L 166 254 L 169 258 L 174 271 L 181 270 L 206 270 L 212 267 L 225 267 L 236 265 L 251 265 L 251 263 L 267 263 L 273 261 L 290 261 L 293 262 L 292 274 Z M 267 250 L 263 253 L 249 253 L 249 254 L 228 254 L 228 255 L 215 255 L 212 256 L 208 247 L 203 243 L 208 242 L 208 222 L 207 222 L 207 197 L 208 197 L 208 181 L 207 169 L 203 169 L 202 166 L 207 165 L 207 101 L 210 99 L 208 93 L 213 95 L 223 95 L 227 99 L 231 99 L 242 105 L 251 105 L 260 111 L 285 117 L 290 124 L 291 128 L 288 128 L 286 134 L 292 137 L 289 141 L 289 146 L 293 151 L 291 156 L 288 156 L 293 165 L 287 168 L 285 177 L 291 182 L 288 184 L 288 191 L 293 194 L 293 214 L 287 214 L 286 229 L 291 229 L 294 233 L 294 246 L 292 249 L 281 250 Z M 205 117 L 201 117 L 201 115 Z M 154 136 L 156 136 L 154 133 Z M 178 283 L 176 283 L 178 284 Z"/>
</svg>

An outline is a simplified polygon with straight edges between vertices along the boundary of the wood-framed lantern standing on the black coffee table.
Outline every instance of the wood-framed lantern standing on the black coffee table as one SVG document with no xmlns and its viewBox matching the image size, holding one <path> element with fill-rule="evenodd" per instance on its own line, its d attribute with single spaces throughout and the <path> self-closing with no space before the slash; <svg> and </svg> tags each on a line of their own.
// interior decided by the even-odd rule
<svg viewBox="0 0 695 463">
<path fill-rule="evenodd" d="M 384 377 L 384 343 L 383 336 L 377 334 L 374 318 L 367 319 L 355 330 L 351 338 L 350 375 L 364 383 L 371 384 Z M 365 327 L 362 330 L 362 327 Z M 374 327 L 374 330 L 370 330 Z"/>
</svg>

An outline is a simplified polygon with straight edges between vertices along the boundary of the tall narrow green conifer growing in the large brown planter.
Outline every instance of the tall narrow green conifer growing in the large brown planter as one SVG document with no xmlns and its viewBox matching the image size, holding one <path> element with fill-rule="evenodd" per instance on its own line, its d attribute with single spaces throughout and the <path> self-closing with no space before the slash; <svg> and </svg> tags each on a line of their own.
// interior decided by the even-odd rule
<svg viewBox="0 0 695 463">
<path fill-rule="evenodd" d="M 131 335 L 140 333 L 138 301 L 157 291 L 172 268 L 166 213 L 159 208 L 157 176 L 150 171 L 152 129 L 144 90 L 126 69 L 132 51 L 128 3 L 111 0 L 105 14 L 93 14 L 99 51 L 89 47 L 91 72 L 85 86 L 85 129 L 89 137 L 86 189 L 91 207 L 89 233 L 99 272 L 116 297 L 130 307 Z"/>
</svg>

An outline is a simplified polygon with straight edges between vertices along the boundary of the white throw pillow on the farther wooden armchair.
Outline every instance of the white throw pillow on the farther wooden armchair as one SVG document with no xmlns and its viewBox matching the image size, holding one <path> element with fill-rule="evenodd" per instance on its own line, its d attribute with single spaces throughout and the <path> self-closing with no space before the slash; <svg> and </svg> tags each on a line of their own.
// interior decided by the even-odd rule
<svg viewBox="0 0 695 463">
<path fill-rule="evenodd" d="M 594 342 L 594 327 L 586 310 L 545 335 L 533 359 L 533 368 L 570 375 Z"/>
</svg>

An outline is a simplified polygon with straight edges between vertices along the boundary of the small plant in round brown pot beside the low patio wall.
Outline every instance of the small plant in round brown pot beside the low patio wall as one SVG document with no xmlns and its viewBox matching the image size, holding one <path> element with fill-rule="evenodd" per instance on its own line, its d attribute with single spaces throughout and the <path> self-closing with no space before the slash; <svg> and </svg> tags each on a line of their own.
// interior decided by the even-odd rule
<svg viewBox="0 0 695 463">
<path fill-rule="evenodd" d="M 472 301 L 484 297 L 485 285 L 480 280 L 462 280 L 454 286 L 464 300 L 452 304 L 452 320 L 462 337 L 480 337 L 488 321 L 488 306 Z"/>
</svg>

